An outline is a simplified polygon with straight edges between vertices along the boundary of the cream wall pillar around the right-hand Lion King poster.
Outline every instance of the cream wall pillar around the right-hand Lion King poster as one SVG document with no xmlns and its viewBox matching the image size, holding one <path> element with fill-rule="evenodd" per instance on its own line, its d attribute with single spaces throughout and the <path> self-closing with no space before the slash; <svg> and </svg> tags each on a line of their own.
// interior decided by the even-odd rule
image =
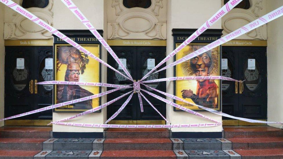
<svg viewBox="0 0 283 159">
<path fill-rule="evenodd" d="M 173 51 L 173 28 L 199 28 L 207 19 L 221 8 L 221 0 L 168 0 L 167 3 L 167 54 Z M 211 26 L 211 29 L 221 29 L 221 20 Z M 167 65 L 173 58 L 167 61 Z M 167 77 L 173 77 L 173 67 L 166 70 Z M 174 94 L 173 81 L 166 83 L 167 92 Z M 168 100 L 173 101 L 170 98 Z M 222 117 L 210 112 L 201 114 L 221 122 Z M 187 112 L 174 112 L 173 107 L 166 106 L 166 116 L 172 124 L 211 123 Z M 172 128 L 173 132 L 220 132 L 222 126 L 204 128 Z"/>
</svg>

